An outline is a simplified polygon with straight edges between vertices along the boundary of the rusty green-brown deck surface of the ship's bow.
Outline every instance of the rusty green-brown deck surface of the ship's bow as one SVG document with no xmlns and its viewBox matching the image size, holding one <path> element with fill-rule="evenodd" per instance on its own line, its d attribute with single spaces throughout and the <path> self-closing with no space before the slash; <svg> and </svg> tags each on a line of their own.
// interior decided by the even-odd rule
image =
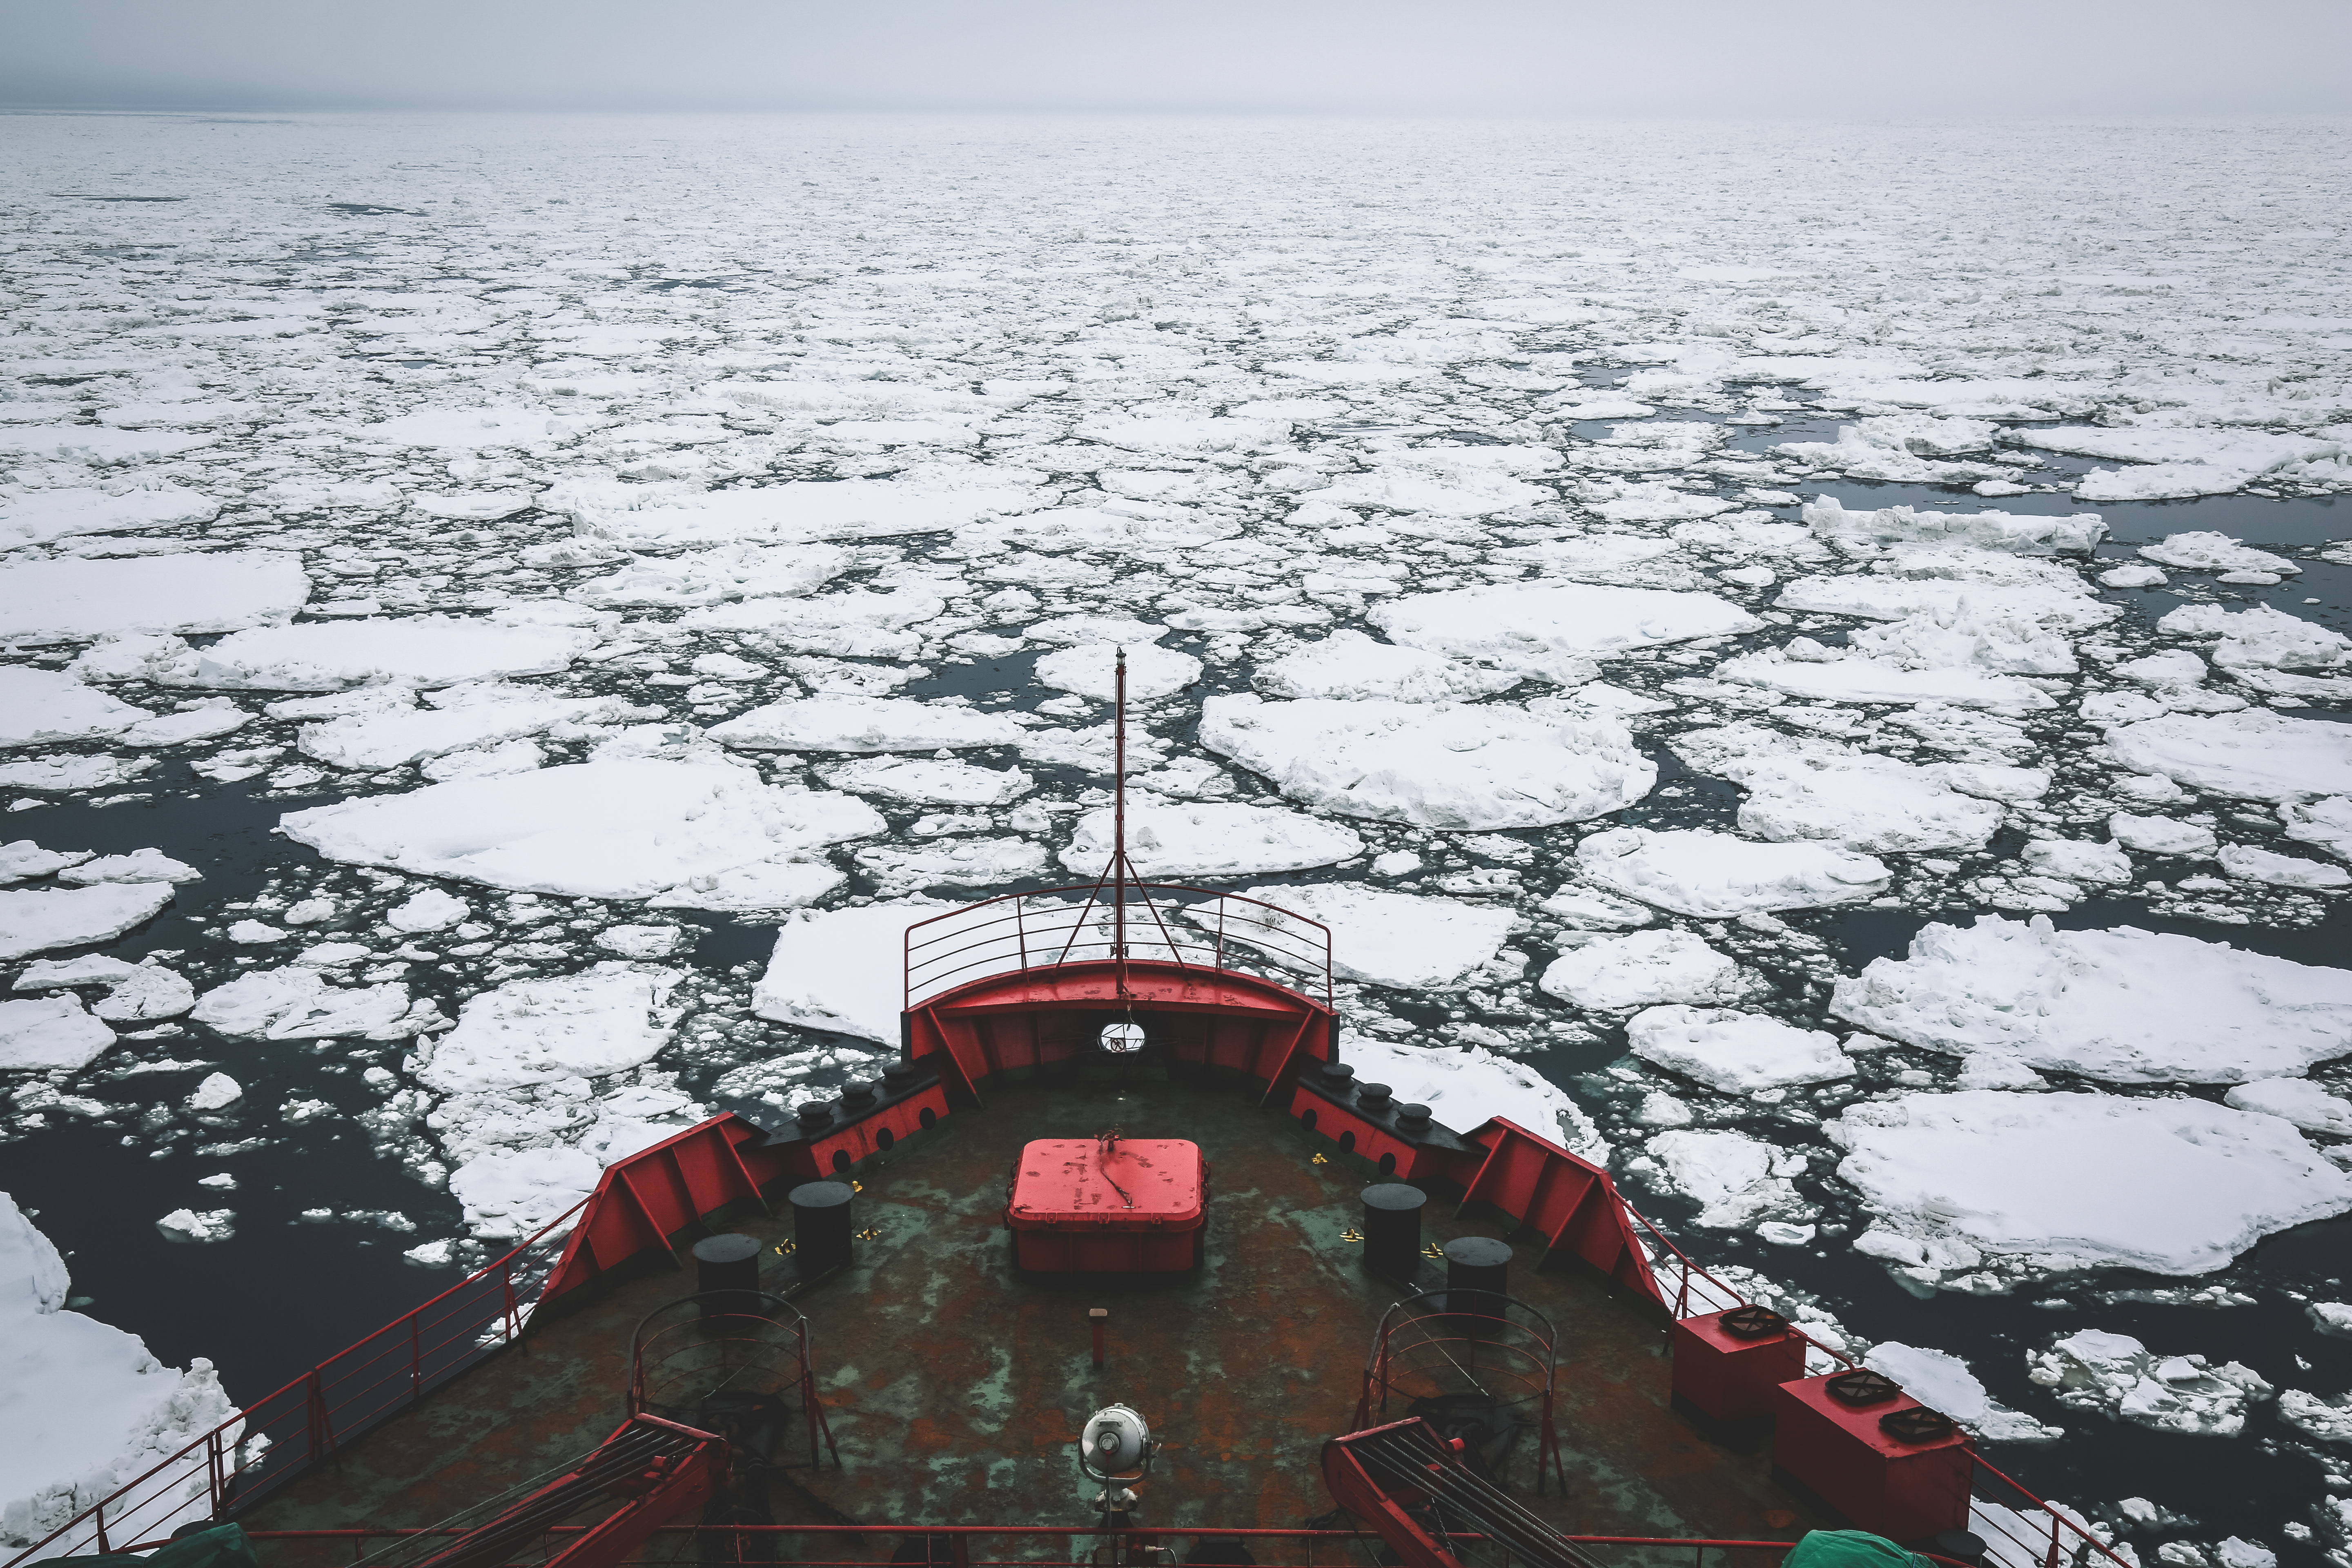
<svg viewBox="0 0 2352 1568">
<path fill-rule="evenodd" d="M 1002 1222 L 1014 1157 L 1112 1124 L 1202 1147 L 1204 1265 L 1160 1284 L 1016 1276 Z M 856 1225 L 875 1234 L 800 1298 L 842 1467 L 795 1467 L 774 1493 L 779 1523 L 1094 1523 L 1073 1446 L 1110 1401 L 1164 1441 L 1138 1523 L 1294 1528 L 1331 1512 L 1319 1448 L 1350 1427 L 1374 1328 L 1399 1295 L 1348 1239 L 1376 1180 L 1352 1157 L 1240 1091 L 1065 1081 L 993 1091 L 858 1175 Z M 774 1246 L 790 1218 L 755 1211 L 734 1229 Z M 1432 1201 L 1425 1239 L 1461 1234 L 1505 1237 L 1508 1220 Z M 1710 1441 L 1670 1408 L 1663 1321 L 1573 1265 L 1538 1274 L 1534 1260 L 1522 1244 L 1510 1288 L 1559 1331 L 1569 1495 L 1519 1486 L 1531 1507 L 1581 1535 L 1764 1540 L 1813 1523 L 1762 1448 Z M 520 1349 L 242 1514 L 247 1528 L 430 1526 L 583 1453 L 626 1415 L 630 1331 L 691 1288 L 663 1269 L 534 1324 Z M 1089 1307 L 1110 1309 L 1101 1368 Z M 1512 1474 L 1531 1481 L 1531 1453 Z M 1797 1523 L 1771 1528 L 1776 1512 Z"/>
</svg>

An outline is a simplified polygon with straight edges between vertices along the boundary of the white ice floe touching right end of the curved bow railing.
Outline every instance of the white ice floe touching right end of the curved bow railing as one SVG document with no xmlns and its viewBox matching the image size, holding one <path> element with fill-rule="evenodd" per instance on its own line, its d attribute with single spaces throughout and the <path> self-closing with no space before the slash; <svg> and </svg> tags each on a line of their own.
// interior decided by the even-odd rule
<svg viewBox="0 0 2352 1568">
<path fill-rule="evenodd" d="M 1204 914 L 1204 924 L 1221 917 L 1228 940 L 1279 959 L 1322 947 L 1317 933 L 1284 919 L 1282 912 L 1305 914 L 1331 931 L 1331 973 L 1399 990 L 1454 985 L 1491 961 L 1519 924 L 1508 907 L 1392 893 L 1359 882 L 1256 886 L 1244 889 L 1244 896 L 1275 910 L 1225 907 Z M 1265 922 L 1270 926 L 1265 940 L 1256 940 L 1256 926 L 1247 922 Z"/>
</svg>

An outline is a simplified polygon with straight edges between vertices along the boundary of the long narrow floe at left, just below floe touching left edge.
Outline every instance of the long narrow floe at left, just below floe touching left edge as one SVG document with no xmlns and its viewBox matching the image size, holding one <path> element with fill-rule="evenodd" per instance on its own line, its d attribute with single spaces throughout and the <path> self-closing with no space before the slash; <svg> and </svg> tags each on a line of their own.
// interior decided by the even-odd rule
<svg viewBox="0 0 2352 1568">
<path fill-rule="evenodd" d="M 508 675 L 553 675 L 595 642 L 595 630 L 579 625 L 503 625 L 463 616 L 303 621 L 230 632 L 209 649 L 191 649 L 169 637 L 148 644 L 127 639 L 118 646 L 139 663 L 106 665 L 94 675 L 106 679 L 143 675 L 162 686 L 216 691 L 452 686 Z"/>
</svg>

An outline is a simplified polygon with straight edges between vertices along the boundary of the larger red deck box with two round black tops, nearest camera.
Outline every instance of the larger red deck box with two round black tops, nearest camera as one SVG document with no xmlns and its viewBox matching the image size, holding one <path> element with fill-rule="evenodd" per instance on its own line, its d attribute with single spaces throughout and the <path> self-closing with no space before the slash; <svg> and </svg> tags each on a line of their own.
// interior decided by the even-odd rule
<svg viewBox="0 0 2352 1568">
<path fill-rule="evenodd" d="M 1849 1406 L 1825 1387 L 1830 1378 L 1783 1382 L 1773 1392 L 1773 1465 L 1813 1488 L 1856 1528 L 1910 1542 L 1938 1530 L 1969 1528 L 1969 1481 L 1976 1455 L 1962 1432 L 1905 1443 L 1879 1418 L 1917 1410 L 1896 1394 Z"/>
</svg>

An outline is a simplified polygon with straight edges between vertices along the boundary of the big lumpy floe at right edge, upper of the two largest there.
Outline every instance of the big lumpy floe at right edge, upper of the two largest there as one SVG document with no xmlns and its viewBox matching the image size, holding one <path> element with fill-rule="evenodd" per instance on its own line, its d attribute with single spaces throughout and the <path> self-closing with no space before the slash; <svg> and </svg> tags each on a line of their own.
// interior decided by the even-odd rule
<svg viewBox="0 0 2352 1568">
<path fill-rule="evenodd" d="M 1952 1056 L 2114 1084 L 2241 1084 L 2352 1051 L 2352 971 L 2117 926 L 1978 914 L 1844 978 L 1830 1011 Z"/>
</svg>

